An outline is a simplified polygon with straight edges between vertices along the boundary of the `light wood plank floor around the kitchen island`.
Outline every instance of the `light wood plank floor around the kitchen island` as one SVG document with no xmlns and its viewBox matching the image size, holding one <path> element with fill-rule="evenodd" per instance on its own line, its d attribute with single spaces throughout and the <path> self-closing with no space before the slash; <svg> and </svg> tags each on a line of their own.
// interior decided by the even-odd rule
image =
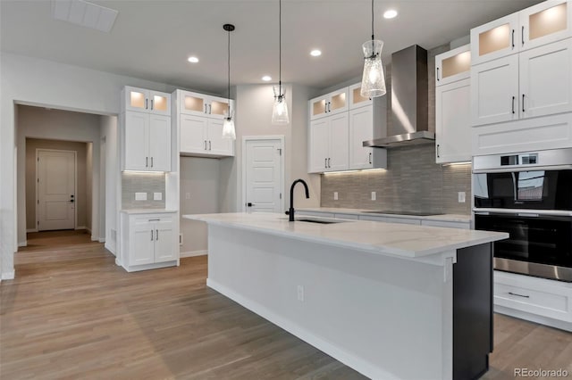
<svg viewBox="0 0 572 380">
<path fill-rule="evenodd" d="M 88 235 L 29 234 L 0 285 L 0 378 L 364 379 L 206 287 L 206 257 L 126 273 Z M 567 368 L 572 334 L 495 316 L 485 379 Z M 470 343 L 467 343 L 470 344 Z"/>
</svg>

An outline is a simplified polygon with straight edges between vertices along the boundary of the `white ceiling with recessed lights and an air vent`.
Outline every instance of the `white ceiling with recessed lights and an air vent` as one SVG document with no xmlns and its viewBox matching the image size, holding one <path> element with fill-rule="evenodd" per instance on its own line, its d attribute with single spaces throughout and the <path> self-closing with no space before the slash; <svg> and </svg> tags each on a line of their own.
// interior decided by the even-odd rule
<svg viewBox="0 0 572 380">
<path fill-rule="evenodd" d="M 139 0 L 92 3 L 119 11 L 110 33 L 51 17 L 48 0 L 0 0 L 2 51 L 224 94 L 232 23 L 231 84 L 278 81 L 278 0 Z M 425 49 L 538 0 L 375 1 L 383 59 L 408 45 Z M 384 20 L 383 11 L 400 12 Z M 371 35 L 369 0 L 282 0 L 282 82 L 323 88 L 360 75 Z M 309 55 L 320 48 L 322 56 Z M 189 55 L 200 62 L 187 62 Z"/>
</svg>

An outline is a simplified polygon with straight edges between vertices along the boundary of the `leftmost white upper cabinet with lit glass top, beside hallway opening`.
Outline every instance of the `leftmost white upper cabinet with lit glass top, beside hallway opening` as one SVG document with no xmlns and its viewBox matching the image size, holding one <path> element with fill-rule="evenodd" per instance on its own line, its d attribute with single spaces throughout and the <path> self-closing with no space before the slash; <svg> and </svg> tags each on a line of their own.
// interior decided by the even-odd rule
<svg viewBox="0 0 572 380">
<path fill-rule="evenodd" d="M 122 170 L 171 170 L 171 95 L 136 87 L 122 90 Z"/>
</svg>

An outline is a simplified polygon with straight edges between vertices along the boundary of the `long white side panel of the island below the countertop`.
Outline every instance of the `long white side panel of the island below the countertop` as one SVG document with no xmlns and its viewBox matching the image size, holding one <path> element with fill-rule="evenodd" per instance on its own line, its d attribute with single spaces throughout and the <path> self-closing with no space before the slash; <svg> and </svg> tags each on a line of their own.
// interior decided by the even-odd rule
<svg viewBox="0 0 572 380">
<path fill-rule="evenodd" d="M 207 285 L 372 378 L 452 376 L 443 267 L 209 224 Z"/>
</svg>

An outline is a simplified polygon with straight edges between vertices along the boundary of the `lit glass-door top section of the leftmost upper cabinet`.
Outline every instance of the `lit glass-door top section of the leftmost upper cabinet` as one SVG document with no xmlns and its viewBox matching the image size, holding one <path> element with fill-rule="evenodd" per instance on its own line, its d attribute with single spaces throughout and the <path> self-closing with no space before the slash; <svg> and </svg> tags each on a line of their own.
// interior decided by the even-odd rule
<svg viewBox="0 0 572 380">
<path fill-rule="evenodd" d="M 171 116 L 171 94 L 126 86 L 123 110 Z"/>
</svg>

